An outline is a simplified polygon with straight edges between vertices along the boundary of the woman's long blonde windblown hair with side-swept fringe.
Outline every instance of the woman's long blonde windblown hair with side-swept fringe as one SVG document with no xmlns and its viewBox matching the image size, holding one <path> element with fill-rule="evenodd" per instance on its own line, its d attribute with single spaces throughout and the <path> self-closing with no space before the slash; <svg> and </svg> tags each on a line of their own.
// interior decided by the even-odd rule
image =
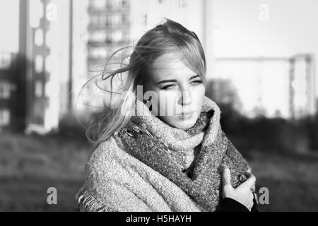
<svg viewBox="0 0 318 226">
<path fill-rule="evenodd" d="M 179 23 L 166 19 L 164 23 L 148 30 L 140 38 L 129 57 L 129 64 L 116 69 L 109 75 L 105 76 L 103 73 L 102 80 L 111 79 L 111 96 L 114 93 L 112 88 L 114 76 L 126 73 L 127 78 L 122 87 L 124 93 L 122 93 L 119 105 L 116 109 L 109 109 L 110 115 L 104 117 L 107 119 L 107 124 L 102 124 L 102 121 L 99 123 L 98 138 L 97 141 L 93 141 L 95 147 L 129 122 L 131 115 L 124 115 L 122 112 L 134 111 L 137 85 L 143 85 L 143 92 L 146 92 L 148 81 L 151 78 L 153 61 L 167 53 L 173 53 L 180 60 L 185 61 L 189 69 L 192 69 L 205 81 L 206 58 L 199 38 L 194 32 L 187 30 Z M 113 56 L 114 54 L 112 54 Z"/>
</svg>

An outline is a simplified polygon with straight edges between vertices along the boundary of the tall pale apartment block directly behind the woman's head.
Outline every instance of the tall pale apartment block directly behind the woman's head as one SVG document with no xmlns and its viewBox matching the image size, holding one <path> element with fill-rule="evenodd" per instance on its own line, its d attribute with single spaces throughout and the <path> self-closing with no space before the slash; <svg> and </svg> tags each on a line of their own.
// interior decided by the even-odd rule
<svg viewBox="0 0 318 226">
<path fill-rule="evenodd" d="M 128 47 L 117 52 L 110 61 L 114 63 L 114 68 L 118 68 L 141 35 L 162 22 L 163 18 L 176 20 L 196 32 L 206 47 L 208 68 L 211 68 L 209 7 L 211 0 L 88 0 L 87 81 L 102 73 L 103 66 L 114 52 Z M 107 65 L 107 69 L 112 68 Z M 105 93 L 98 90 L 93 81 L 86 85 L 81 95 L 79 105 L 91 109 L 99 109 L 102 105 L 103 100 L 99 97 L 104 95 L 106 99 Z"/>
</svg>

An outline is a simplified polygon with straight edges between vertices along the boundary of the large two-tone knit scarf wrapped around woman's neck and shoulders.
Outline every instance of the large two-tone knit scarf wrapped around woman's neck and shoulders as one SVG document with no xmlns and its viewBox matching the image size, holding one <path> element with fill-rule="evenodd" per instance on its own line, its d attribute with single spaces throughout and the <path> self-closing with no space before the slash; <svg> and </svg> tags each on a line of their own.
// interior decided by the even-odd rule
<svg viewBox="0 0 318 226">
<path fill-rule="evenodd" d="M 173 128 L 137 100 L 136 116 L 101 143 L 76 195 L 83 211 L 214 211 L 223 167 L 232 186 L 249 166 L 220 127 L 220 109 L 204 97 L 196 124 Z"/>
</svg>

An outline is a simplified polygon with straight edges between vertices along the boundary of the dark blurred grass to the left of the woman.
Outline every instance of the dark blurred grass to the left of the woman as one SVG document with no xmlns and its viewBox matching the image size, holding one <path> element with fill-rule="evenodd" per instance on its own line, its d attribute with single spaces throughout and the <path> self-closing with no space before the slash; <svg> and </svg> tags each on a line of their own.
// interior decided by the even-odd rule
<svg viewBox="0 0 318 226">
<path fill-rule="evenodd" d="M 62 137 L 0 136 L 0 210 L 76 211 L 89 146 Z M 47 189 L 57 189 L 57 205 Z"/>
</svg>

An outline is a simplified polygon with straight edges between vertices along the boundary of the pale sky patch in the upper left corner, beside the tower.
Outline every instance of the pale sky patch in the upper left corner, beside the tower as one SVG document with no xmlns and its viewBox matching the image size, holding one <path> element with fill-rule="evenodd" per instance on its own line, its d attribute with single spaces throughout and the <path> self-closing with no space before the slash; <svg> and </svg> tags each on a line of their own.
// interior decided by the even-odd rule
<svg viewBox="0 0 318 226">
<path fill-rule="evenodd" d="M 0 1 L 0 52 L 18 51 L 19 1 Z"/>
</svg>

